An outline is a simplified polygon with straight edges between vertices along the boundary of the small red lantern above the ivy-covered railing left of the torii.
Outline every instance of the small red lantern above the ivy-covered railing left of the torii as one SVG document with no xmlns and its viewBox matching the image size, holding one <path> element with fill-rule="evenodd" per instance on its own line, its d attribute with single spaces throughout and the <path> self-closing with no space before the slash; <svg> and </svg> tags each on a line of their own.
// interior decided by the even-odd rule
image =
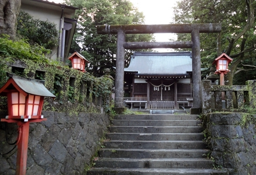
<svg viewBox="0 0 256 175">
<path fill-rule="evenodd" d="M 73 69 L 80 70 L 82 72 L 85 72 L 85 63 L 90 63 L 78 52 L 74 52 L 70 57 L 68 57 L 68 59 L 71 60 Z"/>
</svg>

